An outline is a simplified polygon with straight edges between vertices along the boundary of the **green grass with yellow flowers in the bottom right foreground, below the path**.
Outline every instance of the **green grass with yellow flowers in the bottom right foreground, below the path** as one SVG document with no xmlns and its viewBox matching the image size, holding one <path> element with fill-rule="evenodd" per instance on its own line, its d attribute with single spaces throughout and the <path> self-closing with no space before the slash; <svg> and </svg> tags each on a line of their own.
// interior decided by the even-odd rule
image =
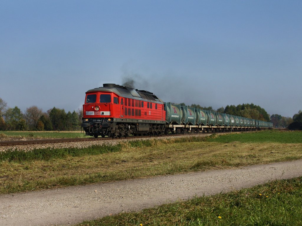
<svg viewBox="0 0 302 226">
<path fill-rule="evenodd" d="M 227 194 L 195 197 L 139 212 L 120 213 L 79 226 L 199 226 L 302 224 L 302 177 L 276 180 Z M 261 194 L 261 195 L 260 195 Z M 221 217 L 221 218 L 220 218 Z"/>
</svg>

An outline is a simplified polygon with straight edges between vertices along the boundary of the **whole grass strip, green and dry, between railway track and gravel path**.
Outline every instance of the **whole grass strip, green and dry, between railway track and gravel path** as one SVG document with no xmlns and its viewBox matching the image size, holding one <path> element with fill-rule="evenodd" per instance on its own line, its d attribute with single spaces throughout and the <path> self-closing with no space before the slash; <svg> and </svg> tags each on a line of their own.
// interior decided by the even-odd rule
<svg viewBox="0 0 302 226">
<path fill-rule="evenodd" d="M 0 193 L 302 159 L 301 135 L 262 131 L 132 140 L 108 147 L 9 150 L 0 152 Z M 277 142 L 278 136 L 286 139 Z"/>
</svg>

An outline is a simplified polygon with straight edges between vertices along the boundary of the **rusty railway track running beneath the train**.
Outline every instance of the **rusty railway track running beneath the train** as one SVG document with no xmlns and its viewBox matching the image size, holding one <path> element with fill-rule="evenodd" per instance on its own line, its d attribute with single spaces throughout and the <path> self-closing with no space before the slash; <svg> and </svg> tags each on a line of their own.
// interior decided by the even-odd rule
<svg viewBox="0 0 302 226">
<path fill-rule="evenodd" d="M 243 132 L 243 131 L 240 131 Z M 250 131 L 245 131 L 250 132 Z M 220 134 L 220 133 L 231 133 L 231 132 L 215 132 L 215 133 L 201 133 L 201 134 Z M 236 133 L 236 132 L 233 132 Z M 238 132 L 237 132 L 238 133 Z M 171 136 L 183 136 L 183 135 L 194 135 L 194 134 L 170 134 L 170 135 L 159 135 L 160 137 L 171 137 Z M 196 134 L 195 134 L 196 135 Z M 134 139 L 140 137 L 159 137 L 154 135 L 148 136 L 130 136 L 130 137 L 115 137 L 114 139 Z M 14 145 L 25 145 L 25 144 L 51 144 L 51 143 L 65 143 L 65 142 L 81 142 L 81 141 L 92 141 L 92 140 L 112 140 L 112 137 L 101 137 L 101 138 L 64 138 L 64 139 L 43 139 L 43 140 L 14 140 L 14 141 L 0 141 L 0 146 L 14 146 Z"/>
</svg>

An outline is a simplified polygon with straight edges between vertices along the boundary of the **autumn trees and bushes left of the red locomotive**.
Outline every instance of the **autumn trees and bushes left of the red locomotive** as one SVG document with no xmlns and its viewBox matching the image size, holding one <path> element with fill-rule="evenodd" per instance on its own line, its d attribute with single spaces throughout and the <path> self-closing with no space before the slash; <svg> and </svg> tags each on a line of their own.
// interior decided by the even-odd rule
<svg viewBox="0 0 302 226">
<path fill-rule="evenodd" d="M 46 112 L 37 106 L 26 108 L 23 113 L 15 106 L 9 108 L 0 98 L 0 131 L 74 131 L 81 129 L 82 109 L 70 112 L 53 107 Z"/>
</svg>

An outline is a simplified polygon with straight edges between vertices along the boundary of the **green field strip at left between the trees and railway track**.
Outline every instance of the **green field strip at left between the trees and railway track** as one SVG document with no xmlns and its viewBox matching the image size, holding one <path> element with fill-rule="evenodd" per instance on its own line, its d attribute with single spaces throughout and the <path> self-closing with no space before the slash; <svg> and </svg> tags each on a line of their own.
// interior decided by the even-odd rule
<svg viewBox="0 0 302 226">
<path fill-rule="evenodd" d="M 60 138 L 82 138 L 85 133 L 80 131 L 2 131 L 2 140 L 5 138 L 33 138 L 33 139 L 60 139 Z"/>
</svg>

